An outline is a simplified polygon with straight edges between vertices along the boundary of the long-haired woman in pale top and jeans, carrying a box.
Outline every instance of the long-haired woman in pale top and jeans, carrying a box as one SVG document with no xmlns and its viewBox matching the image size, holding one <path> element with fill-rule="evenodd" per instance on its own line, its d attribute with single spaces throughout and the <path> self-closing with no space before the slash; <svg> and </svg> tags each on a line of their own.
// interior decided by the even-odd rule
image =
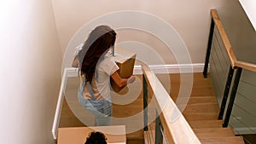
<svg viewBox="0 0 256 144">
<path fill-rule="evenodd" d="M 109 125 L 112 116 L 110 78 L 123 87 L 135 80 L 121 78 L 119 66 L 107 56 L 113 47 L 116 33 L 109 26 L 97 26 L 84 42 L 79 54 L 73 60 L 73 67 L 80 68 L 81 86 L 79 102 L 96 117 L 96 126 Z"/>
</svg>

